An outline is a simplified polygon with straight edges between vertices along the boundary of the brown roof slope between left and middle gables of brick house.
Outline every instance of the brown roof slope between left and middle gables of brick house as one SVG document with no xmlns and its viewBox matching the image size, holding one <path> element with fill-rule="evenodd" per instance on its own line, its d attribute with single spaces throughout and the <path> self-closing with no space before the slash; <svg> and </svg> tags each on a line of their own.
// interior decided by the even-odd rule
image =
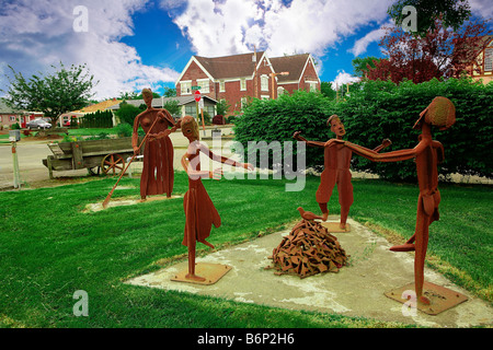
<svg viewBox="0 0 493 350">
<path fill-rule="evenodd" d="M 227 79 L 252 75 L 255 67 L 253 55 L 250 52 L 222 57 L 194 57 L 215 79 Z M 256 62 L 260 62 L 263 55 L 264 51 L 256 52 Z"/>
</svg>

